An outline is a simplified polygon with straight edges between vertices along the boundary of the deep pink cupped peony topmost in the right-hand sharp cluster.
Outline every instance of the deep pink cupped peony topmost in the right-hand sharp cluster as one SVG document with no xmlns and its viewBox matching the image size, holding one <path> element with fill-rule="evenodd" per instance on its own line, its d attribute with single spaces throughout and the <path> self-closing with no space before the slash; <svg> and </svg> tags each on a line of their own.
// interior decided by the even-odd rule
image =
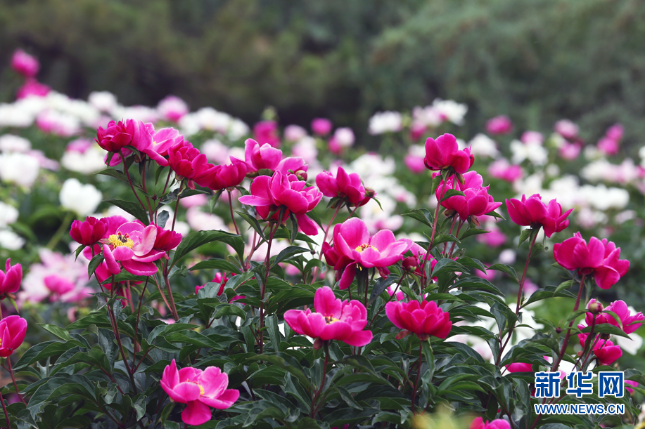
<svg viewBox="0 0 645 429">
<path fill-rule="evenodd" d="M 475 157 L 471 150 L 459 150 L 459 144 L 452 134 L 442 134 L 435 140 L 426 140 L 424 162 L 430 170 L 444 170 L 452 167 L 456 173 L 466 173 L 473 166 Z"/>
</svg>

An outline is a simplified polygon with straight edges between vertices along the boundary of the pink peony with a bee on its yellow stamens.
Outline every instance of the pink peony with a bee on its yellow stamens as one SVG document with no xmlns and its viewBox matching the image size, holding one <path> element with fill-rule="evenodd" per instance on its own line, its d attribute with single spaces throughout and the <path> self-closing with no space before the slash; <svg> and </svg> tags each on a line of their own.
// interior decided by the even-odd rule
<svg viewBox="0 0 645 429">
<path fill-rule="evenodd" d="M 157 272 L 154 261 L 166 257 L 166 252 L 154 249 L 157 226 L 143 227 L 141 223 L 127 222 L 117 228 L 115 234 L 101 240 L 106 266 L 112 274 L 123 268 L 134 275 L 153 275 Z M 118 262 L 117 262 L 118 261 Z"/>
</svg>

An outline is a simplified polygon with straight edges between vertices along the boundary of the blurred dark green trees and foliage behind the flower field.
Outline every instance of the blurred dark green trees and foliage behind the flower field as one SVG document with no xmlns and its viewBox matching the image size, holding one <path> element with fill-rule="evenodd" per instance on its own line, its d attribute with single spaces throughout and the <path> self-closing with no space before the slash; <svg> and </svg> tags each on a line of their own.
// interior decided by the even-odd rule
<svg viewBox="0 0 645 429">
<path fill-rule="evenodd" d="M 172 93 L 250 123 L 272 105 L 368 145 L 373 112 L 452 98 L 468 136 L 497 114 L 518 129 L 566 117 L 589 139 L 620 121 L 629 148 L 645 133 L 644 18 L 638 0 L 0 0 L 0 100 L 23 47 L 76 98 Z"/>
</svg>

